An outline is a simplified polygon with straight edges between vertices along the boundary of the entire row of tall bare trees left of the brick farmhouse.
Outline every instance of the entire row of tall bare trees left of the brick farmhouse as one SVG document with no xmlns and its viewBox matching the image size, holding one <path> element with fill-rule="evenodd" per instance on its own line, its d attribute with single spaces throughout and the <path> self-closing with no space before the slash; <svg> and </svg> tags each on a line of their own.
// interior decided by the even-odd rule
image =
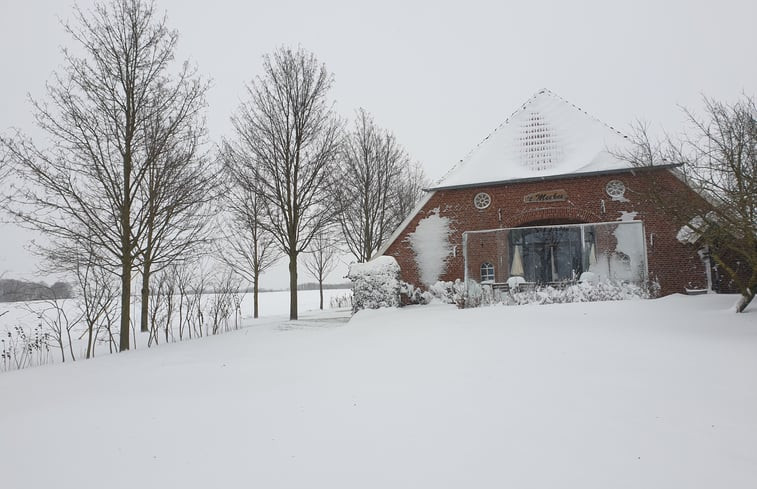
<svg viewBox="0 0 757 489">
<path fill-rule="evenodd" d="M 46 99 L 32 100 L 47 145 L 2 137 L 0 162 L 22 182 L 4 207 L 45 236 L 39 252 L 51 270 L 76 277 L 88 356 L 101 324 L 111 347 L 129 349 L 136 279 L 140 328 L 153 331 L 163 313 L 151 302 L 173 290 L 166 274 L 211 250 L 252 282 L 256 317 L 260 277 L 286 256 L 296 319 L 303 254 L 322 285 L 338 243 L 370 259 L 418 198 L 420 168 L 364 110 L 345 129 L 329 99 L 333 75 L 312 53 L 264 58 L 216 155 L 208 82 L 175 63 L 178 33 L 152 1 L 77 7 L 74 17 L 64 28 L 76 49 L 63 51 Z"/>
</svg>

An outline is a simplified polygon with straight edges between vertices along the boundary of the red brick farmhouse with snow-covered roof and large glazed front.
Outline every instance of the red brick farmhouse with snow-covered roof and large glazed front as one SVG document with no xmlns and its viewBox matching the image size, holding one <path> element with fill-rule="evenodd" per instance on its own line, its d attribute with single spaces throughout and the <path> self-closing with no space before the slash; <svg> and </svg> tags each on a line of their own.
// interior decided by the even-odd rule
<svg viewBox="0 0 757 489">
<path fill-rule="evenodd" d="M 710 287 L 706 253 L 644 199 L 650 178 L 691 191 L 670 166 L 639 169 L 615 154 L 618 131 L 549 90 L 515 111 L 439 182 L 379 254 L 402 278 L 533 283 L 657 281 L 662 294 Z M 586 275 L 584 275 L 586 276 Z"/>
</svg>

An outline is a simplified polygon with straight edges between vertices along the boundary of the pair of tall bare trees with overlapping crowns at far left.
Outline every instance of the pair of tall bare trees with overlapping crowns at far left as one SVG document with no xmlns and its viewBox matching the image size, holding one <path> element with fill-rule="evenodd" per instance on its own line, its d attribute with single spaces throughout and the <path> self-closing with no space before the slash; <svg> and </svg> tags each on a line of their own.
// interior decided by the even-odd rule
<svg viewBox="0 0 757 489">
<path fill-rule="evenodd" d="M 188 63 L 174 68 L 178 34 L 151 2 L 76 8 L 75 19 L 64 27 L 77 49 L 63 51 L 47 101 L 32 101 L 49 146 L 2 140 L 25 183 L 8 209 L 49 240 L 40 252 L 56 270 L 95 266 L 119 278 L 127 350 L 133 273 L 145 330 L 151 274 L 208 238 L 218 188 L 202 149 L 208 83 Z"/>
</svg>

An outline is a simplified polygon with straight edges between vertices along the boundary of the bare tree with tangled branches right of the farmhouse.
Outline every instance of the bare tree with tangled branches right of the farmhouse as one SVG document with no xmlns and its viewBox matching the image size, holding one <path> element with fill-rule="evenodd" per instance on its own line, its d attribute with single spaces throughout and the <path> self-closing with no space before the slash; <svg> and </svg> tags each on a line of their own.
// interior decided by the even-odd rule
<svg viewBox="0 0 757 489">
<path fill-rule="evenodd" d="M 704 98 L 704 118 L 686 110 L 691 132 L 654 141 L 639 124 L 635 149 L 622 155 L 637 166 L 679 165 L 697 191 L 692 197 L 661 179 L 650 179 L 648 198 L 681 226 L 683 237 L 704 246 L 742 295 L 742 312 L 757 293 L 757 107 L 753 97 L 733 104 Z"/>
</svg>

